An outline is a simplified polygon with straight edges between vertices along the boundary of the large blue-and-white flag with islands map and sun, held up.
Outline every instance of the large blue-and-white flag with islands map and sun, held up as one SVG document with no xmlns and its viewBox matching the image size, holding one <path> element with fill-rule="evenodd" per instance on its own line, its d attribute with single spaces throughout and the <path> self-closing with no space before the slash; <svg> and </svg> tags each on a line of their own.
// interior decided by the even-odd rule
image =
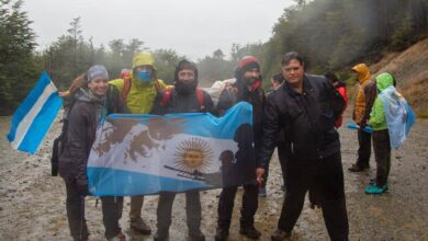
<svg viewBox="0 0 428 241">
<path fill-rule="evenodd" d="M 256 180 L 252 107 L 209 113 L 109 115 L 99 126 L 87 173 L 95 196 L 216 188 Z"/>
</svg>

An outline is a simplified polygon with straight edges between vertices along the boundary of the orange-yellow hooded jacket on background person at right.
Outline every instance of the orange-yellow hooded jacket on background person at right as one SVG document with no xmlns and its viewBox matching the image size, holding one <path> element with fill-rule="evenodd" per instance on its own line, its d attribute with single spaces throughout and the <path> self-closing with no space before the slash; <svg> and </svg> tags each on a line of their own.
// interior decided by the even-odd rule
<svg viewBox="0 0 428 241">
<path fill-rule="evenodd" d="M 370 83 L 371 74 L 369 68 L 364 64 L 352 67 L 352 70 L 358 73 L 359 83 L 356 92 L 352 118 L 357 124 L 361 124 L 367 107 L 364 88 Z"/>
</svg>

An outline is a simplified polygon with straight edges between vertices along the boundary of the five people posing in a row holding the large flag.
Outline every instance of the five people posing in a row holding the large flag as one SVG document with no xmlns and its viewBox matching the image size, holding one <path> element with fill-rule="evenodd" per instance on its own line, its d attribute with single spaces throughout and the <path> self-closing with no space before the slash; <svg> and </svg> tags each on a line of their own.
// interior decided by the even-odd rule
<svg viewBox="0 0 428 241">
<path fill-rule="evenodd" d="M 291 236 L 302 211 L 305 194 L 313 188 L 318 193 L 330 239 L 348 240 L 343 172 L 337 131 L 346 99 L 337 90 L 338 87 L 335 87 L 337 83 L 328 80 L 328 77 L 305 73 L 303 57 L 294 51 L 283 56 L 281 72 L 274 77 L 274 90 L 268 96 L 261 89 L 260 71 L 260 61 L 256 57 L 247 56 L 240 59 L 235 70 L 235 83 L 223 90 L 216 106 L 210 94 L 198 88 L 198 68 L 188 60 L 181 60 L 177 65 L 173 85 L 167 85 L 158 79 L 154 57 L 149 53 L 136 54 L 132 69 L 123 71 L 120 79 L 110 80 L 105 67 L 100 65 L 91 67 L 77 78 L 69 91 L 61 93 L 66 100 L 71 99 L 74 104 L 66 116 L 67 138 L 65 150 L 59 158 L 59 174 L 66 183 L 67 216 L 74 240 L 88 240 L 89 237 L 85 219 L 85 196 L 90 195 L 86 164 L 97 125 L 108 114 L 210 112 L 222 116 L 241 101 L 252 105 L 252 138 L 248 141 L 254 145 L 255 152 L 239 154 L 237 158 L 255 156 L 256 167 L 252 170 L 255 180 L 243 185 L 239 233 L 252 240 L 261 236 L 255 227 L 255 214 L 260 190 L 261 193 L 263 188 L 266 192 L 269 161 L 278 147 L 286 193 L 278 229 L 271 240 L 284 240 Z M 388 77 L 382 77 L 384 78 Z M 166 94 L 168 97 L 165 97 Z M 358 112 L 360 117 L 364 114 L 364 110 Z M 362 125 L 365 122 L 358 123 Z M 382 131 L 383 124 L 379 124 L 374 118 L 370 119 L 370 124 L 373 124 L 375 130 L 380 130 L 379 139 L 387 138 Z M 361 142 L 367 145 L 367 141 Z M 359 162 L 352 167 L 354 170 L 368 167 L 367 150 L 361 152 L 365 156 L 361 154 Z M 376 184 L 384 186 L 386 177 L 387 170 L 378 176 Z M 228 238 L 237 188 L 238 186 L 225 186 L 221 192 L 215 233 L 217 241 Z M 169 238 L 174 197 L 176 193 L 172 192 L 159 194 L 155 240 Z M 185 198 L 189 238 L 205 240 L 201 231 L 199 191 L 185 192 Z M 126 240 L 119 225 L 123 197 L 106 196 L 101 197 L 101 202 L 105 238 Z M 150 227 L 142 218 L 143 203 L 143 196 L 131 197 L 129 228 L 149 234 Z"/>
</svg>

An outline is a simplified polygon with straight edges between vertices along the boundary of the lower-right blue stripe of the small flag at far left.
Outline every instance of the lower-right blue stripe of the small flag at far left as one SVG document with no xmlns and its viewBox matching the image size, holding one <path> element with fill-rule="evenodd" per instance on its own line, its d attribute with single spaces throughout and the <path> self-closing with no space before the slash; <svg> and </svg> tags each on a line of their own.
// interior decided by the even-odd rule
<svg viewBox="0 0 428 241">
<path fill-rule="evenodd" d="M 43 105 L 41 112 L 33 119 L 29 131 L 25 134 L 24 139 L 18 147 L 21 151 L 35 153 L 38 146 L 42 144 L 46 133 L 49 130 L 52 123 L 55 120 L 59 108 L 63 105 L 63 99 L 58 95 L 58 92 L 52 93 Z"/>
</svg>

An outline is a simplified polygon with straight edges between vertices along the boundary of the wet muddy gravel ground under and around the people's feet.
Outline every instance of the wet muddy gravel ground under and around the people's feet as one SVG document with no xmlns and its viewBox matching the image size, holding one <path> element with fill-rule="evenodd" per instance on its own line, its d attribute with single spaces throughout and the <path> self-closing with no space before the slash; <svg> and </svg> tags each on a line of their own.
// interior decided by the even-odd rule
<svg viewBox="0 0 428 241">
<path fill-rule="evenodd" d="M 38 153 L 27 156 L 9 147 L 5 134 L 9 117 L 0 117 L 0 240 L 71 240 L 65 209 L 65 185 L 60 177 L 50 176 L 50 147 L 59 131 L 55 123 Z M 346 197 L 350 225 L 350 240 L 428 240 L 428 122 L 418 122 L 401 150 L 393 151 L 390 191 L 381 196 L 363 193 L 375 174 L 349 173 L 347 168 L 356 160 L 354 130 L 341 128 Z M 283 200 L 278 158 L 271 161 L 268 197 L 259 198 L 256 227 L 262 231 L 260 240 L 269 240 L 277 227 Z M 241 192 L 241 191 L 239 191 Z M 203 192 L 202 230 L 207 240 L 214 240 L 218 190 Z M 238 233 L 239 196 L 236 198 L 229 240 L 246 240 Z M 183 195 L 178 195 L 173 207 L 170 240 L 185 240 Z M 156 231 L 157 196 L 147 196 L 144 217 Z M 137 236 L 127 227 L 128 198 L 125 198 L 122 227 L 128 240 L 153 240 L 153 236 Z M 90 240 L 104 240 L 100 204 L 87 198 L 87 219 Z M 319 209 L 304 210 L 291 240 L 328 240 Z"/>
</svg>

